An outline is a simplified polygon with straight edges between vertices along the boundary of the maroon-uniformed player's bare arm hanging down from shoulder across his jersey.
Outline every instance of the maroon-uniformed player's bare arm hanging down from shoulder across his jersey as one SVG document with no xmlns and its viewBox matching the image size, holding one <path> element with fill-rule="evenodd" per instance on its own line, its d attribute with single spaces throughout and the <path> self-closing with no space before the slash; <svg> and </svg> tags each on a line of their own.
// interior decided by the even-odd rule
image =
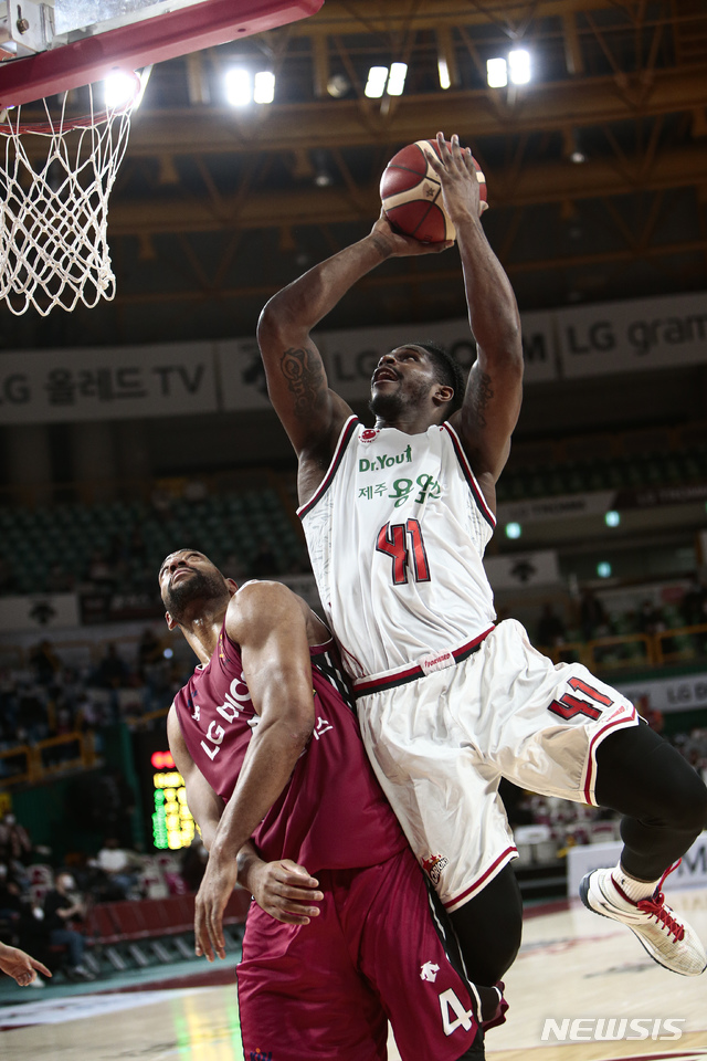
<svg viewBox="0 0 707 1061">
<path fill-rule="evenodd" d="M 303 606 L 279 582 L 250 582 L 231 599 L 225 630 L 240 645 L 243 677 L 260 716 L 211 845 L 197 895 L 197 953 L 225 957 L 223 910 L 236 857 L 292 777 L 314 729 L 309 643 Z"/>
</svg>

